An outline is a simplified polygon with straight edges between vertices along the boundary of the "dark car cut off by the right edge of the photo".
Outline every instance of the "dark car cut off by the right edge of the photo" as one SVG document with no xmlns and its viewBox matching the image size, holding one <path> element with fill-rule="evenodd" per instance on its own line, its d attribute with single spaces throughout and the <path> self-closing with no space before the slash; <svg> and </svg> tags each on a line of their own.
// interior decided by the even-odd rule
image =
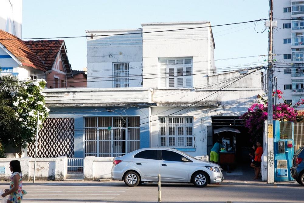
<svg viewBox="0 0 304 203">
<path fill-rule="evenodd" d="M 291 176 L 304 186 L 304 147 L 300 147 L 292 158 Z"/>
</svg>

